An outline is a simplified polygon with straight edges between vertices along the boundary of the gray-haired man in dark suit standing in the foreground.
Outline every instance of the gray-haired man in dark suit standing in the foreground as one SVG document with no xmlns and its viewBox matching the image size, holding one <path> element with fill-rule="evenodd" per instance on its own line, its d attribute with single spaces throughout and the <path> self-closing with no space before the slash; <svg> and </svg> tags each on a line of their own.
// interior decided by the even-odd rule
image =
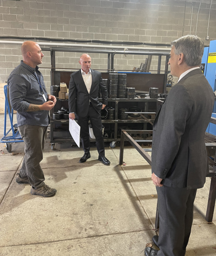
<svg viewBox="0 0 216 256">
<path fill-rule="evenodd" d="M 159 237 L 146 256 L 184 256 L 193 202 L 208 173 L 204 135 L 214 104 L 211 86 L 199 68 L 204 44 L 197 36 L 172 43 L 169 65 L 179 81 L 170 90 L 153 125 L 152 176 L 159 205 Z"/>
</svg>

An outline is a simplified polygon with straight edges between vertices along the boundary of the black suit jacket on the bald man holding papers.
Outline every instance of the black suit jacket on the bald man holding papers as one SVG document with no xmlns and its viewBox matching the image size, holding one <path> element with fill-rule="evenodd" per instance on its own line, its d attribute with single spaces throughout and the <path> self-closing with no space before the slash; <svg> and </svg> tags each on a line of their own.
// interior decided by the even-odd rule
<svg viewBox="0 0 216 256">
<path fill-rule="evenodd" d="M 107 105 L 108 91 L 104 81 L 102 80 L 101 73 L 91 69 L 91 76 L 92 84 L 90 93 L 88 93 L 83 76 L 81 75 L 81 69 L 70 75 L 68 97 L 70 113 L 76 112 L 76 115 L 80 117 L 87 116 L 89 100 L 98 113 L 102 108 L 102 104 Z M 102 95 L 102 103 L 98 100 L 99 88 Z"/>
</svg>

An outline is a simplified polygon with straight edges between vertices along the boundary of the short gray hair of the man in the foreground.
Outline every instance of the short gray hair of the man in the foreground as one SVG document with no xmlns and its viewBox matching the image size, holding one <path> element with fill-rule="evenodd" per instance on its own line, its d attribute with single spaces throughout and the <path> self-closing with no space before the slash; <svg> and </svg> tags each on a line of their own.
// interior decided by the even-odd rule
<svg viewBox="0 0 216 256">
<path fill-rule="evenodd" d="M 204 52 L 204 43 L 198 36 L 182 36 L 171 43 L 174 46 L 174 53 L 183 53 L 184 61 L 189 67 L 200 66 Z"/>
</svg>

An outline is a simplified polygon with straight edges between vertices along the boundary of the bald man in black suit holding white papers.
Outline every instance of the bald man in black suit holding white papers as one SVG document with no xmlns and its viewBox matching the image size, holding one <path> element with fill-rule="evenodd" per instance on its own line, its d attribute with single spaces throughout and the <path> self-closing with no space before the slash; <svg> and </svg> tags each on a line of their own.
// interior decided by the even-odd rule
<svg viewBox="0 0 216 256">
<path fill-rule="evenodd" d="M 70 75 L 69 83 L 69 118 L 74 120 L 75 115 L 80 126 L 80 137 L 83 144 L 84 156 L 79 162 L 85 162 L 91 157 L 88 121 L 96 138 L 98 150 L 98 160 L 104 165 L 109 165 L 110 161 L 105 157 L 104 136 L 102 134 L 102 122 L 100 111 L 104 109 L 108 102 L 107 87 L 102 80 L 101 73 L 90 69 L 91 57 L 83 54 L 79 64 L 81 69 Z M 102 95 L 102 103 L 98 100 L 98 91 Z"/>
</svg>

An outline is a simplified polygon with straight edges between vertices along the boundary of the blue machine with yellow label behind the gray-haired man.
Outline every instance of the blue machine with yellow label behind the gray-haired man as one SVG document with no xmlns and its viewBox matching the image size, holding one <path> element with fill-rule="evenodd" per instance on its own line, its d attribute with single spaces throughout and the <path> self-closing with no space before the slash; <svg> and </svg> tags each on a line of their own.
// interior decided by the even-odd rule
<svg viewBox="0 0 216 256">
<path fill-rule="evenodd" d="M 201 69 L 207 78 L 212 90 L 216 90 L 216 40 L 210 42 L 209 47 L 204 48 Z M 216 104 L 214 103 L 212 117 L 216 117 Z M 216 125 L 209 124 L 207 132 L 216 135 Z"/>
</svg>

